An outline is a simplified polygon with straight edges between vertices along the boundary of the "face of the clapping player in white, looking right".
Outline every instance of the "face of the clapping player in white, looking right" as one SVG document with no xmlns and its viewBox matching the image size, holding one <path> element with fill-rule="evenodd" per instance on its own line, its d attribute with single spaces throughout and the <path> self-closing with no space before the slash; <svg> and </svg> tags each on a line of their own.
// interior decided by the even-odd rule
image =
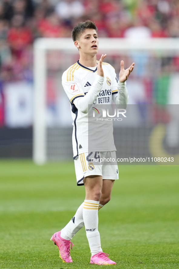
<svg viewBox="0 0 179 269">
<path fill-rule="evenodd" d="M 86 29 L 77 43 L 80 53 L 96 55 L 98 52 L 98 35 L 94 29 Z"/>
</svg>

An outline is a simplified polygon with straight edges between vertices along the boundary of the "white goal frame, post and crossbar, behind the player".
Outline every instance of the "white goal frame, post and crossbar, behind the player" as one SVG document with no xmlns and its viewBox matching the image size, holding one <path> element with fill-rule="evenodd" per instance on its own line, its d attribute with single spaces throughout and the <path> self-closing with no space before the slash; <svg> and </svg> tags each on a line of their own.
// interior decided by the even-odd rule
<svg viewBox="0 0 179 269">
<path fill-rule="evenodd" d="M 46 153 L 46 53 L 59 50 L 78 53 L 71 38 L 39 38 L 34 42 L 34 117 L 33 160 L 37 164 L 47 161 Z M 179 55 L 179 38 L 124 39 L 101 38 L 102 53 L 130 51 L 175 51 Z M 65 70 L 64 70 L 65 71 Z"/>
</svg>

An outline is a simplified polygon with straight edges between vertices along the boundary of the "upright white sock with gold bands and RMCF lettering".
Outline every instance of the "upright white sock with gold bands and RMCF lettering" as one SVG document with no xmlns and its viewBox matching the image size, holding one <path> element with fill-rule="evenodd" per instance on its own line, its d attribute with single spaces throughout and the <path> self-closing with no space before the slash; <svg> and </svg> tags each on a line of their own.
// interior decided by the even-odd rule
<svg viewBox="0 0 179 269">
<path fill-rule="evenodd" d="M 100 234 L 98 232 L 98 201 L 85 200 L 83 206 L 83 220 L 88 238 L 91 256 L 103 252 L 101 249 Z"/>
</svg>

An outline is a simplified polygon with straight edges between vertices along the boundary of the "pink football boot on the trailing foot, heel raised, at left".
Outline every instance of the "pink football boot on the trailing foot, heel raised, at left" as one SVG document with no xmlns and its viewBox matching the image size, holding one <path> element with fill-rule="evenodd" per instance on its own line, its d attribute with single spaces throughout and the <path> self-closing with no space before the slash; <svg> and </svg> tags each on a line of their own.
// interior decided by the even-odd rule
<svg viewBox="0 0 179 269">
<path fill-rule="evenodd" d="M 54 242 L 54 245 L 57 245 L 60 253 L 60 258 L 62 259 L 63 262 L 73 262 L 70 256 L 70 244 L 71 244 L 71 249 L 72 244 L 70 240 L 63 239 L 61 236 L 61 231 L 55 233 L 52 235 L 51 239 Z"/>
</svg>

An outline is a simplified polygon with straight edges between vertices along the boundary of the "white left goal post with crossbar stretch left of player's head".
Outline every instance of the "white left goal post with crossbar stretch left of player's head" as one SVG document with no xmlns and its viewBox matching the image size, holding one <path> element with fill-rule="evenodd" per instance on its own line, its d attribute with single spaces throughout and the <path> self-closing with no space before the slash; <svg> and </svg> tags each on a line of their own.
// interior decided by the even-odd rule
<svg viewBox="0 0 179 269">
<path fill-rule="evenodd" d="M 71 39 L 40 38 L 34 42 L 34 115 L 33 160 L 37 164 L 47 161 L 46 154 L 46 53 L 48 50 L 75 51 Z"/>
</svg>

